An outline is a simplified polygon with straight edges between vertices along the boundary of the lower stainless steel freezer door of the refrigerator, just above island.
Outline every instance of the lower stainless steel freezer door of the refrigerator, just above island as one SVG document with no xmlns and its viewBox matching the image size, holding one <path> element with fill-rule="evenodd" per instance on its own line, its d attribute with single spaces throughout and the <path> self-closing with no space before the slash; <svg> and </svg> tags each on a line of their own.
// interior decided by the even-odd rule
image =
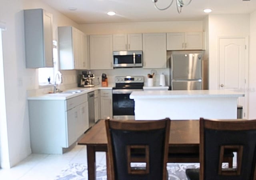
<svg viewBox="0 0 256 180">
<path fill-rule="evenodd" d="M 202 90 L 202 79 L 172 81 L 172 90 Z"/>
</svg>

